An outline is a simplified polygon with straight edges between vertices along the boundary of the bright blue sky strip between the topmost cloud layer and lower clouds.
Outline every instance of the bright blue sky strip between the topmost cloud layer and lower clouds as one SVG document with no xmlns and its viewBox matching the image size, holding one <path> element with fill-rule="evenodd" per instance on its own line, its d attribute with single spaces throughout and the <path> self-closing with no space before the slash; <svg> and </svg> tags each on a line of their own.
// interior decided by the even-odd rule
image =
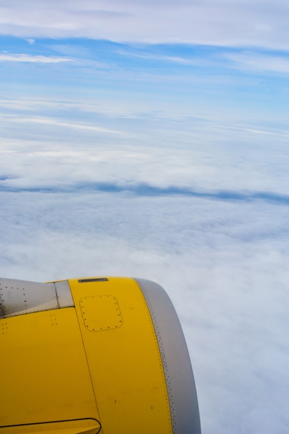
<svg viewBox="0 0 289 434">
<path fill-rule="evenodd" d="M 0 42 L 3 95 L 77 98 L 81 92 L 82 101 L 125 98 L 131 110 L 157 105 L 246 121 L 288 116 L 286 51 L 84 38 L 2 36 Z"/>
</svg>

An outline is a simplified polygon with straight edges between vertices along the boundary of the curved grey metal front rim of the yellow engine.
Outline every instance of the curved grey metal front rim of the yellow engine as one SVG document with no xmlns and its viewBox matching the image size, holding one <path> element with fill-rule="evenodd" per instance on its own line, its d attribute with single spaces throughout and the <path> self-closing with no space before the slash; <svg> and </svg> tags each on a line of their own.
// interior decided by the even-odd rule
<svg viewBox="0 0 289 434">
<path fill-rule="evenodd" d="M 200 413 L 193 370 L 179 318 L 165 290 L 153 281 L 134 279 L 145 297 L 164 366 L 173 434 L 200 434 Z"/>
</svg>

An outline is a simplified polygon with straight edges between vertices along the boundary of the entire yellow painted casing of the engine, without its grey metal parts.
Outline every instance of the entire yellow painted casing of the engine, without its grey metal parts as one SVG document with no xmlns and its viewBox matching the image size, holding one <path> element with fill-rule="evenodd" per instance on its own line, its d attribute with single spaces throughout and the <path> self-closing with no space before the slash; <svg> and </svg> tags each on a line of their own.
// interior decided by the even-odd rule
<svg viewBox="0 0 289 434">
<path fill-rule="evenodd" d="M 171 434 L 164 367 L 137 282 L 69 285 L 75 307 L 0 320 L 0 434 Z"/>
</svg>

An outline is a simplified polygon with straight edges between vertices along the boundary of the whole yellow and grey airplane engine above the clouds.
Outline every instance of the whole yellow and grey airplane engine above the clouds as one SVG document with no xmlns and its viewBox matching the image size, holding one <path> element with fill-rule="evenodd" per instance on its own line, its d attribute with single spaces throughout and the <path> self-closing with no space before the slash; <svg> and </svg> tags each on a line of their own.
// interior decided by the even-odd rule
<svg viewBox="0 0 289 434">
<path fill-rule="evenodd" d="M 145 279 L 0 279 L 0 434 L 200 434 L 177 314 Z"/>
</svg>

